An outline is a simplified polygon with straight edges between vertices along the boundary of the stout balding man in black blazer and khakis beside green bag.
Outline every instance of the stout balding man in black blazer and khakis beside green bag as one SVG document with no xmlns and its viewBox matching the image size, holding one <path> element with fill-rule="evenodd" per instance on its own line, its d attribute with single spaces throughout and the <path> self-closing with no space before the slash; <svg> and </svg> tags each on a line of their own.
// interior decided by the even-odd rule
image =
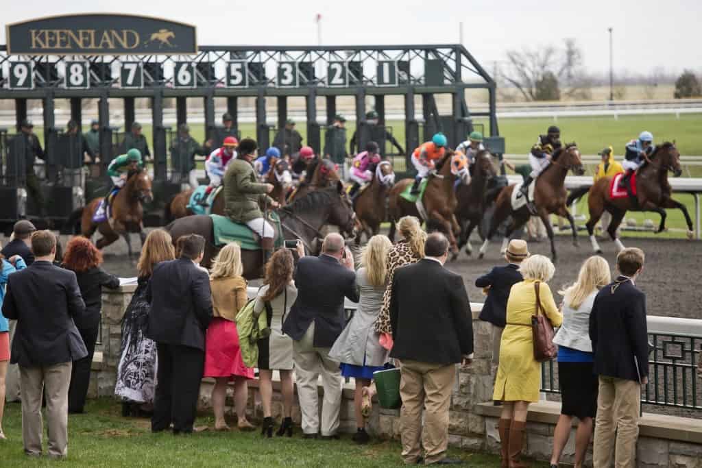
<svg viewBox="0 0 702 468">
<path fill-rule="evenodd" d="M 424 250 L 423 260 L 395 271 L 390 295 L 390 356 L 402 373 L 402 458 L 416 464 L 423 446 L 425 464 L 453 464 L 446 459 L 449 403 L 456 364 L 472 360 L 472 315 L 463 279 L 443 266 L 449 241 L 435 232 Z"/>
</svg>

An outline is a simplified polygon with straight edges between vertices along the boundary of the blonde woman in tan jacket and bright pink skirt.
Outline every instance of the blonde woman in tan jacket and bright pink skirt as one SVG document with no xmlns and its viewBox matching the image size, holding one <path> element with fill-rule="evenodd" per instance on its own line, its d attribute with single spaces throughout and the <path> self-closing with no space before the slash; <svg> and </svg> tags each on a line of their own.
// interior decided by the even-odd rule
<svg viewBox="0 0 702 468">
<path fill-rule="evenodd" d="M 253 430 L 246 420 L 246 400 L 249 397 L 247 380 L 253 379 L 253 368 L 244 366 L 239 349 L 239 334 L 234 317 L 246 305 L 246 280 L 241 276 L 241 248 L 237 243 L 227 244 L 215 258 L 210 272 L 213 319 L 205 339 L 205 377 L 214 377 L 212 407 L 215 429 L 230 429 L 224 419 L 227 383 L 234 381 L 234 408 L 237 426 L 242 431 Z"/>
</svg>

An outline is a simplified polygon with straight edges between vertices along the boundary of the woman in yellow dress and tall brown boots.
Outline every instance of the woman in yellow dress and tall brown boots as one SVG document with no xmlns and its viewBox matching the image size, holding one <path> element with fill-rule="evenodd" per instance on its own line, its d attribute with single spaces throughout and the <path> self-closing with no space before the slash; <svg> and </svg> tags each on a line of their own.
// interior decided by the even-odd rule
<svg viewBox="0 0 702 468">
<path fill-rule="evenodd" d="M 553 326 L 560 326 L 563 316 L 558 311 L 547 281 L 555 268 L 547 257 L 532 255 L 522 262 L 519 272 L 524 281 L 510 289 L 507 300 L 507 325 L 500 343 L 500 364 L 497 368 L 493 399 L 502 401 L 498 429 L 502 445 L 502 466 L 522 468 L 524 425 L 529 403 L 538 401 L 541 364 L 534 359 L 531 338 L 531 316 L 536 314 L 536 290 L 543 312 Z"/>
</svg>

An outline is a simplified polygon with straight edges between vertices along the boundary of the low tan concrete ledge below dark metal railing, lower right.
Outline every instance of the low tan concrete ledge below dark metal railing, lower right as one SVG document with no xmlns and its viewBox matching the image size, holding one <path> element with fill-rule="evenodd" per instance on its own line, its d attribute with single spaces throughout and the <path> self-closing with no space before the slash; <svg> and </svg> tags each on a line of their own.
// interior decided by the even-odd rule
<svg viewBox="0 0 702 468">
<path fill-rule="evenodd" d="M 492 403 L 478 403 L 475 413 L 486 417 L 500 417 L 501 407 Z M 557 401 L 539 401 L 529 405 L 527 421 L 556 424 L 561 413 L 561 403 Z M 576 420 L 573 421 L 576 425 Z M 702 424 L 700 420 L 689 417 L 677 417 L 644 413 L 639 420 L 639 435 L 654 439 L 668 439 L 688 443 L 702 444 Z"/>
</svg>

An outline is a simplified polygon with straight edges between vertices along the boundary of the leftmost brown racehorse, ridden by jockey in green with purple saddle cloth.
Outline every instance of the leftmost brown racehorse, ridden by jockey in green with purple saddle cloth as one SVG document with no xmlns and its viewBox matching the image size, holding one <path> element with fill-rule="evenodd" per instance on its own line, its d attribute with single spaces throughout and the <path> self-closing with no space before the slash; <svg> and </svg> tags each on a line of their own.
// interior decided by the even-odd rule
<svg viewBox="0 0 702 468">
<path fill-rule="evenodd" d="M 137 232 L 141 239 L 142 246 L 146 240 L 146 233 L 143 231 L 143 203 L 151 203 L 154 194 L 151 191 L 151 179 L 148 173 L 141 169 L 130 171 L 127 181 L 110 203 L 110 220 L 99 223 L 93 222 L 93 214 L 102 202 L 104 197 L 93 199 L 88 206 L 75 210 L 69 217 L 68 225 L 74 225 L 78 219 L 81 220 L 80 234 L 88 239 L 97 230 L 102 237 L 95 243 L 97 248 L 109 246 L 124 237 L 127 243 L 128 253 L 131 257 L 132 248 L 129 233 Z"/>
</svg>

